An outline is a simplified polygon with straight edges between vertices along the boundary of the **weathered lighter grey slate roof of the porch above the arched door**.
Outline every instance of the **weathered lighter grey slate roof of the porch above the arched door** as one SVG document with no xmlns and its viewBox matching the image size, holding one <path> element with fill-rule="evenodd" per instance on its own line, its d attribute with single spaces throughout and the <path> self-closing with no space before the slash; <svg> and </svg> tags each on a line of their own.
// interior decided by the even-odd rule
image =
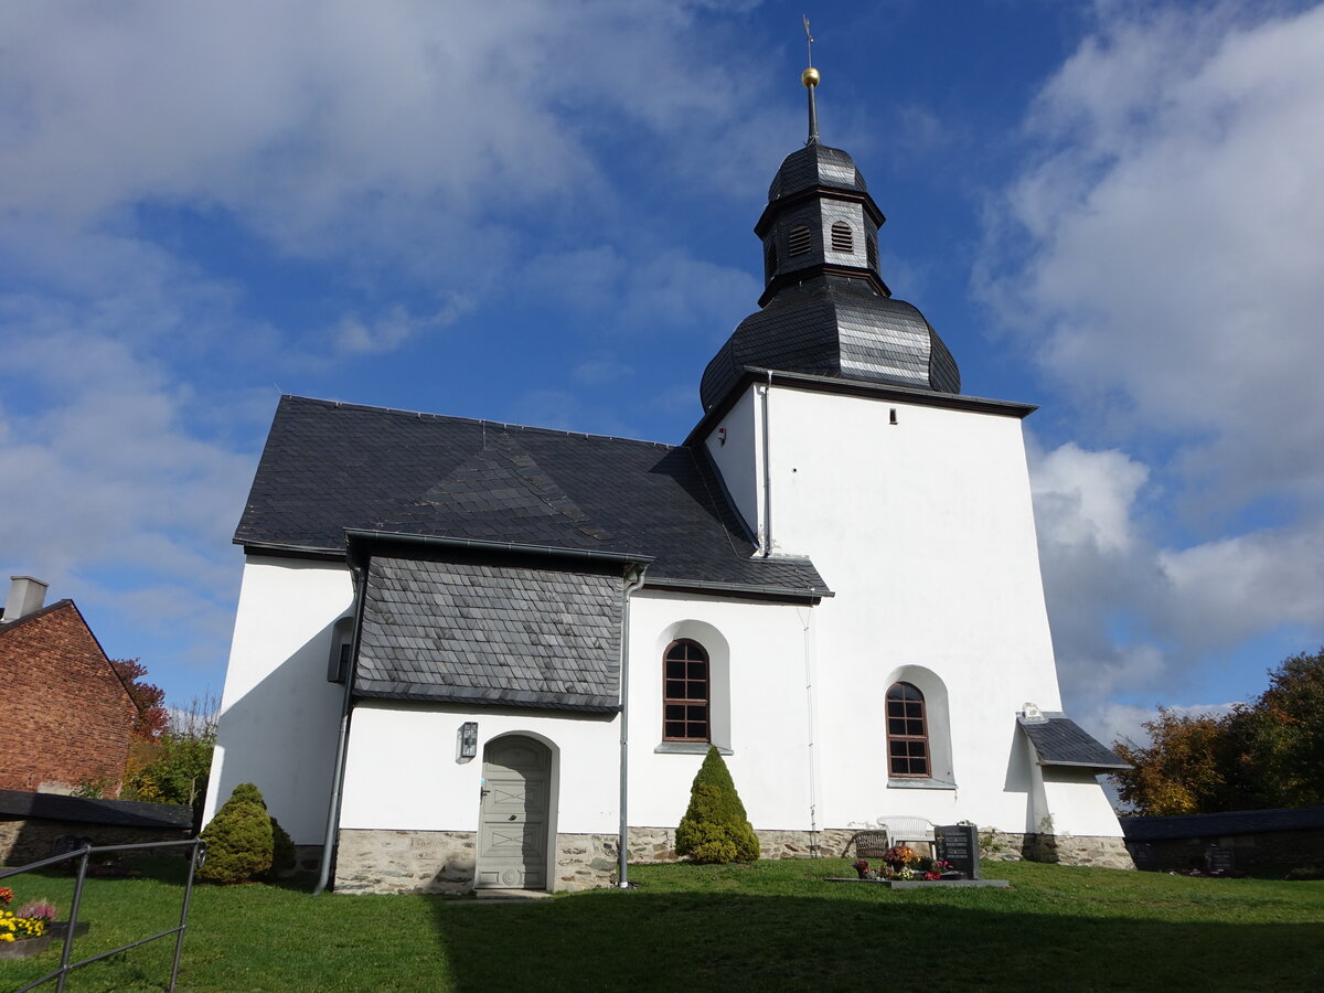
<svg viewBox="0 0 1324 993">
<path fill-rule="evenodd" d="M 373 556 L 360 696 L 614 711 L 624 579 Z"/>
</svg>

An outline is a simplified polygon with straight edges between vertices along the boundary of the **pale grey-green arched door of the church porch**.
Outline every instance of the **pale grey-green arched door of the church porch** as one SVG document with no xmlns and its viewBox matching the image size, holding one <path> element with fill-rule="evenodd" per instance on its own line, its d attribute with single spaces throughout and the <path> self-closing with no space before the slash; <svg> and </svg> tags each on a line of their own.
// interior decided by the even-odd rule
<svg viewBox="0 0 1324 993">
<path fill-rule="evenodd" d="M 545 888 L 551 749 L 532 737 L 499 737 L 483 749 L 483 779 L 477 886 Z"/>
</svg>

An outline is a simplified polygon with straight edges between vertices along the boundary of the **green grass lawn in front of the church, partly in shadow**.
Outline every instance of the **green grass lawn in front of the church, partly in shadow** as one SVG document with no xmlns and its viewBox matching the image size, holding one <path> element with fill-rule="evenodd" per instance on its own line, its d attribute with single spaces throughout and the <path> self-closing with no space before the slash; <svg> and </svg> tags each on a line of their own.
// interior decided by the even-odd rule
<svg viewBox="0 0 1324 993">
<path fill-rule="evenodd" d="M 845 859 L 638 866 L 637 890 L 487 903 L 199 887 L 181 990 L 1321 990 L 1324 882 L 1188 879 L 985 863 L 1010 890 L 825 883 Z M 95 879 L 77 957 L 172 927 L 177 866 Z M 68 911 L 71 880 L 5 880 Z M 0 990 L 60 945 L 0 961 Z M 159 990 L 168 941 L 75 972 L 68 989 Z M 46 989 L 54 989 L 52 984 Z"/>
</svg>

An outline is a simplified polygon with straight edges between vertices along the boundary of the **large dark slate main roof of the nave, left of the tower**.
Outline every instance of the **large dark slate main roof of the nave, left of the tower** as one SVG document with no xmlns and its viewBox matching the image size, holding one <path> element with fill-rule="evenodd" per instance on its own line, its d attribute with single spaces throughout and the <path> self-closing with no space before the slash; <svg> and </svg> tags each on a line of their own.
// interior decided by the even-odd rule
<svg viewBox="0 0 1324 993">
<path fill-rule="evenodd" d="M 344 553 L 346 530 L 654 559 L 650 585 L 830 594 L 755 547 L 696 448 L 286 396 L 234 540 Z"/>
</svg>

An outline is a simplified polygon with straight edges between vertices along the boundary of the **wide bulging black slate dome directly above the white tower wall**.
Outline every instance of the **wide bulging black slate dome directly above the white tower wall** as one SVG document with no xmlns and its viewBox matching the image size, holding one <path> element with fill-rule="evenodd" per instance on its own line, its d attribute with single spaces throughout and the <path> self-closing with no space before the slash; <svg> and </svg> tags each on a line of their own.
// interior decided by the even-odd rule
<svg viewBox="0 0 1324 993">
<path fill-rule="evenodd" d="M 740 322 L 703 371 L 704 410 L 740 381 L 745 367 L 961 392 L 956 360 L 916 307 L 833 275 L 784 287 Z"/>
</svg>

